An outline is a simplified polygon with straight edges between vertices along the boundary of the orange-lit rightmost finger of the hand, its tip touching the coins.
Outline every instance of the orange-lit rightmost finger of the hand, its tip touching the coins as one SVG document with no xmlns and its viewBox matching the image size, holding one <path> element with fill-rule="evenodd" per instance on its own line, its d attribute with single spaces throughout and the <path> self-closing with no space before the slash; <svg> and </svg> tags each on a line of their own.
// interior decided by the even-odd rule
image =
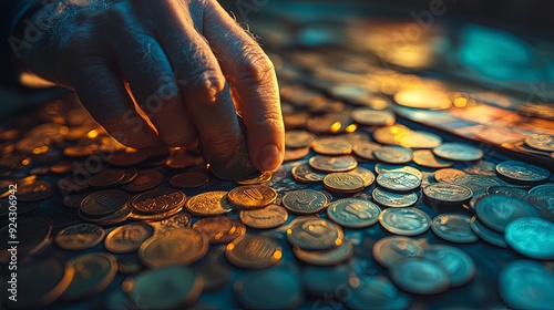
<svg viewBox="0 0 554 310">
<path fill-rule="evenodd" d="M 260 170 L 283 163 L 285 127 L 269 58 L 216 1 L 204 7 L 203 34 L 219 59 L 247 132 L 248 154 Z"/>
</svg>

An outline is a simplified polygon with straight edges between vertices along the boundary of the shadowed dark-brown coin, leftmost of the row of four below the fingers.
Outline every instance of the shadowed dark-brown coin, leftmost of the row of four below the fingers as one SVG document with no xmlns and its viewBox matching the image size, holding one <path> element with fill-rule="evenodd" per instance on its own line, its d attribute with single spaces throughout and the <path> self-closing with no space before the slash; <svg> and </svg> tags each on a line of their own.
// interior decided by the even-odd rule
<svg viewBox="0 0 554 310">
<path fill-rule="evenodd" d="M 81 202 L 80 210 L 89 216 L 107 216 L 123 208 L 129 195 L 120 189 L 104 189 L 90 194 Z"/>
</svg>

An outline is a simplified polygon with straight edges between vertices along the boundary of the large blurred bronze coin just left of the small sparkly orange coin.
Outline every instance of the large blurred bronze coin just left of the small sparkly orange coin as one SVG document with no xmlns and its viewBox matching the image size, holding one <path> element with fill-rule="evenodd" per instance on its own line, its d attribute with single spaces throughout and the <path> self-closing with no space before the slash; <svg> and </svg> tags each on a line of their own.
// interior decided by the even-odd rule
<svg viewBox="0 0 554 310">
<path fill-rule="evenodd" d="M 144 241 L 138 248 L 138 259 L 151 269 L 191 265 L 206 255 L 208 242 L 206 235 L 196 229 L 173 229 Z"/>
</svg>

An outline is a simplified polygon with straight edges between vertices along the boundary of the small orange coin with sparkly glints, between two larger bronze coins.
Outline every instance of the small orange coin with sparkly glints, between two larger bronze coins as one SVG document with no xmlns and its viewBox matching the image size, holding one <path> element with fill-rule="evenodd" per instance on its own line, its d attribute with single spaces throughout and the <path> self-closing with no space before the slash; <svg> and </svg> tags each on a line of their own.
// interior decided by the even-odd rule
<svg viewBox="0 0 554 310">
<path fill-rule="evenodd" d="M 202 218 L 193 228 L 206 234 L 211 244 L 228 244 L 246 232 L 244 224 L 227 216 Z"/>
</svg>

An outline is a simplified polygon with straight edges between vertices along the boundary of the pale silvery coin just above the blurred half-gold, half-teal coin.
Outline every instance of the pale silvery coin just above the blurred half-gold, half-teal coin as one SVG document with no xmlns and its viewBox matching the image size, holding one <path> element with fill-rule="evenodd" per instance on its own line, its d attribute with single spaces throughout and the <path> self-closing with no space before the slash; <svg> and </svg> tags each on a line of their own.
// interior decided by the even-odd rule
<svg viewBox="0 0 554 310">
<path fill-rule="evenodd" d="M 414 207 L 384 209 L 379 215 L 379 223 L 390 232 L 402 236 L 420 235 L 431 227 L 431 218 Z"/>
</svg>

